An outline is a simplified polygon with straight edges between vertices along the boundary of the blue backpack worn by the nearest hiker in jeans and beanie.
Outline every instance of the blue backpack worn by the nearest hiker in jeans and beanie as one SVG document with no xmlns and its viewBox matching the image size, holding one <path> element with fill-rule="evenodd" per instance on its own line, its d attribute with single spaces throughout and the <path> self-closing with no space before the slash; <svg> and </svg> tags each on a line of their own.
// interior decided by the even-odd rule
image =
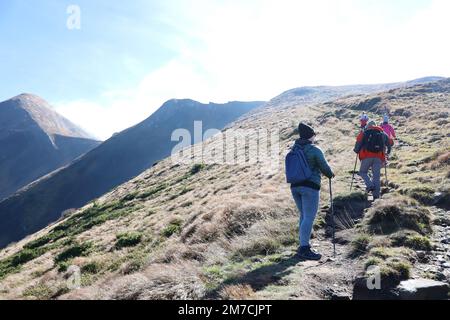
<svg viewBox="0 0 450 320">
<path fill-rule="evenodd" d="M 286 180 L 290 184 L 298 184 L 311 178 L 312 171 L 309 167 L 305 153 L 298 145 L 294 145 L 286 156 Z"/>
</svg>

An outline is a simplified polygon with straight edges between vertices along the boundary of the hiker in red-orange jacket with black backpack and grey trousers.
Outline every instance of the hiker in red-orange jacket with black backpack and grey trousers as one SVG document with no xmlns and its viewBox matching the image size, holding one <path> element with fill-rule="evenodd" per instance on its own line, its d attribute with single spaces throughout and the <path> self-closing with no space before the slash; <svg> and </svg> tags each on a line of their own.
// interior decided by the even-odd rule
<svg viewBox="0 0 450 320">
<path fill-rule="evenodd" d="M 359 175 L 366 184 L 367 192 L 372 192 L 374 200 L 381 195 L 381 168 L 386 164 L 391 148 L 388 135 L 375 121 L 369 122 L 366 131 L 361 131 L 356 139 L 354 151 L 361 160 Z M 372 179 L 369 170 L 372 171 Z"/>
</svg>

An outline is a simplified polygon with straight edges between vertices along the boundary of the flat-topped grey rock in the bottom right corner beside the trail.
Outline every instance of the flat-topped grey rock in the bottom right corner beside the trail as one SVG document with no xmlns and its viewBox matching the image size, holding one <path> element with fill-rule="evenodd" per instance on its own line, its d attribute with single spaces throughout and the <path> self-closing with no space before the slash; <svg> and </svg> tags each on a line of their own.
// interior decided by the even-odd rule
<svg viewBox="0 0 450 320">
<path fill-rule="evenodd" d="M 449 288 L 444 282 L 415 279 L 401 282 L 396 291 L 401 300 L 444 300 Z"/>
</svg>

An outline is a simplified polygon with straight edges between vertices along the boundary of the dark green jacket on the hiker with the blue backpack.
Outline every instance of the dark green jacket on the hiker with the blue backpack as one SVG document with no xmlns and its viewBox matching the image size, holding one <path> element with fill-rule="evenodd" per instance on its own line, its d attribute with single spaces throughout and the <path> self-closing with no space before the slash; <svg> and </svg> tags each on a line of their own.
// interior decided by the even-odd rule
<svg viewBox="0 0 450 320">
<path fill-rule="evenodd" d="M 301 183 L 300 185 L 293 185 L 293 187 L 305 186 L 320 190 L 322 174 L 330 179 L 334 177 L 333 171 L 325 159 L 323 151 L 319 147 L 313 145 L 309 140 L 299 139 L 295 144 L 302 148 L 312 171 L 312 176 L 308 181 Z"/>
</svg>

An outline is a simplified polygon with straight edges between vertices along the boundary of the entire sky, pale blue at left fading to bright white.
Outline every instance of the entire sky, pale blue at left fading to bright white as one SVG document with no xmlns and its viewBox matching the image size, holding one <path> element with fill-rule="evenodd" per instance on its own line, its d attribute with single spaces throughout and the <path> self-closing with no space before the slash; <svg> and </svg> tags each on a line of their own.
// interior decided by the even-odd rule
<svg viewBox="0 0 450 320">
<path fill-rule="evenodd" d="M 172 98 L 450 76 L 449 13 L 448 0 L 0 0 L 0 101 L 37 94 L 107 139 Z"/>
</svg>

